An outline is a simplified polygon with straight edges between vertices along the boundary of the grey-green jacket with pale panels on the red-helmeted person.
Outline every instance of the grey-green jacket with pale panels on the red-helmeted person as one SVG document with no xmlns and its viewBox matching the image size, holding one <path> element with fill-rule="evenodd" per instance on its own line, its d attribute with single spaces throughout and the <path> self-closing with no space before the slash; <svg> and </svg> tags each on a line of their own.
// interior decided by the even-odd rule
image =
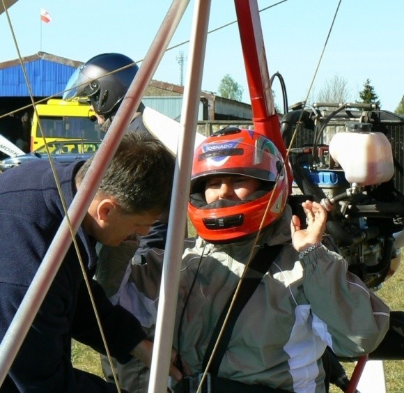
<svg viewBox="0 0 404 393">
<path fill-rule="evenodd" d="M 219 376 L 293 392 L 325 392 L 320 357 L 326 346 L 343 357 L 370 353 L 387 332 L 389 308 L 327 247 L 318 247 L 300 261 L 290 245 L 290 217 L 287 208 L 261 236 L 261 244 L 285 246 L 242 309 Z M 185 244 L 173 343 L 192 373 L 203 371 L 210 336 L 252 243 L 213 245 L 196 238 Z M 116 301 L 127 308 L 129 302 L 137 303 L 132 312 L 139 320 L 147 316 L 150 322 L 155 316 L 150 309 L 158 301 L 163 258 L 162 250 L 151 249 L 146 265 L 126 265 Z"/>
</svg>

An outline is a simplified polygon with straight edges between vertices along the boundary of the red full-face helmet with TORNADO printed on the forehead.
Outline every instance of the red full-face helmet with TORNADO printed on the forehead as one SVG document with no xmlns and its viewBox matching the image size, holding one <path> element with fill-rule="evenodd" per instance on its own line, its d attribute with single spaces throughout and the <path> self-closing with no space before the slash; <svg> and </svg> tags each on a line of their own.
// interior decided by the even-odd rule
<svg viewBox="0 0 404 393">
<path fill-rule="evenodd" d="M 262 180 L 262 188 L 243 201 L 206 203 L 205 183 L 212 175 L 244 175 Z M 274 187 L 277 182 L 277 187 Z M 275 222 L 286 205 L 288 179 L 283 158 L 269 139 L 252 130 L 225 128 L 199 145 L 192 165 L 188 214 L 196 232 L 209 242 L 254 236 Z M 270 206 L 268 202 L 270 201 Z"/>
</svg>

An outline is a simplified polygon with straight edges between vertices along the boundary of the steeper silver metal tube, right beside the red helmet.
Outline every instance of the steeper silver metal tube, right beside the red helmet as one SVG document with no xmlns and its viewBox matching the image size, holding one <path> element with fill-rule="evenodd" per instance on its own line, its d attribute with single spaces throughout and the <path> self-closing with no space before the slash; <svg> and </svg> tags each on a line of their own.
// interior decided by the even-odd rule
<svg viewBox="0 0 404 393">
<path fill-rule="evenodd" d="M 210 0 L 195 1 L 188 55 L 189 63 L 180 120 L 181 132 L 178 141 L 176 174 L 174 176 L 174 184 L 177 187 L 173 190 L 170 206 L 169 229 L 166 251 L 164 253 L 163 277 L 160 286 L 153 358 L 148 385 L 149 393 L 165 392 L 169 376 L 183 252 L 182 238 L 178 238 L 178 236 L 181 236 L 181 233 L 185 233 L 185 222 L 187 219 L 189 181 L 191 178 L 196 126 L 198 123 L 209 13 Z"/>
</svg>

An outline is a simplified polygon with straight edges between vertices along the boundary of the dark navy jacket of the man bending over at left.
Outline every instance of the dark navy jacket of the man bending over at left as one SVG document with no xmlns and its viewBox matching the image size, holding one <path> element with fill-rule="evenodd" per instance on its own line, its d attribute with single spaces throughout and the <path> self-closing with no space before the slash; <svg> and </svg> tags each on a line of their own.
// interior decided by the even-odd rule
<svg viewBox="0 0 404 393">
<path fill-rule="evenodd" d="M 68 206 L 75 194 L 74 176 L 83 162 L 56 164 Z M 64 213 L 61 199 L 44 160 L 22 164 L 0 174 L 0 339 L 13 320 Z M 95 240 L 77 233 L 95 303 L 111 355 L 127 362 L 129 351 L 146 337 L 139 321 L 120 306 L 112 306 L 92 277 Z M 73 369 L 71 339 L 104 353 L 104 346 L 84 284 L 79 260 L 70 247 L 1 392 L 112 392 L 104 380 Z M 1 356 L 1 354 L 0 354 Z"/>
</svg>

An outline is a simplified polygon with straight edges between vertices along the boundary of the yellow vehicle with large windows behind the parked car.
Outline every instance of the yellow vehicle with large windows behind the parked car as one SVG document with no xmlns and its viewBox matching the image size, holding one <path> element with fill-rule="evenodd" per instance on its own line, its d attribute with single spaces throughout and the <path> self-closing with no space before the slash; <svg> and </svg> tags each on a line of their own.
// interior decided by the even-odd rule
<svg viewBox="0 0 404 393">
<path fill-rule="evenodd" d="M 56 139 L 102 139 L 103 137 L 104 132 L 100 131 L 94 111 L 85 102 L 52 98 L 47 100 L 46 104 L 36 105 L 31 127 L 31 151 Z"/>
</svg>

